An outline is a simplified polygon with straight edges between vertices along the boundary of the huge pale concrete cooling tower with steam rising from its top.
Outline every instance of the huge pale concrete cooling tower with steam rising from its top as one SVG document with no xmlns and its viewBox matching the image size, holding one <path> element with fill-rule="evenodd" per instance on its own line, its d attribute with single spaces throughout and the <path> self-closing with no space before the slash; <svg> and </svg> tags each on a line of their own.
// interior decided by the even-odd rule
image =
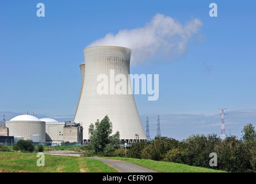
<svg viewBox="0 0 256 184">
<path fill-rule="evenodd" d="M 139 137 L 147 140 L 140 121 L 135 99 L 131 93 L 116 93 L 119 80 L 114 76 L 125 76 L 127 91 L 129 80 L 131 49 L 101 46 L 83 50 L 85 63 L 80 65 L 82 85 L 74 122 L 83 126 L 83 140 L 89 140 L 88 128 L 91 123 L 109 116 L 113 132 L 120 132 L 120 139 L 133 142 Z M 124 87 L 124 86 L 123 86 Z M 102 89 L 105 93 L 102 93 Z"/>
</svg>

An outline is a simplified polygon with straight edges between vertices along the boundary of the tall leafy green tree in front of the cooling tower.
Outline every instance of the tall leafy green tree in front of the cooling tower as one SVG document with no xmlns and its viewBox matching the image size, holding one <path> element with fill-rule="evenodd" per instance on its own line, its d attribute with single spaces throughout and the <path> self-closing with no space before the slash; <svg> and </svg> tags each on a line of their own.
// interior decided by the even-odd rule
<svg viewBox="0 0 256 184">
<path fill-rule="evenodd" d="M 116 150 L 119 147 L 120 134 L 117 131 L 114 135 L 112 133 L 112 122 L 108 115 L 101 121 L 97 120 L 89 127 L 90 146 L 93 148 L 94 154 L 99 155 Z"/>
</svg>

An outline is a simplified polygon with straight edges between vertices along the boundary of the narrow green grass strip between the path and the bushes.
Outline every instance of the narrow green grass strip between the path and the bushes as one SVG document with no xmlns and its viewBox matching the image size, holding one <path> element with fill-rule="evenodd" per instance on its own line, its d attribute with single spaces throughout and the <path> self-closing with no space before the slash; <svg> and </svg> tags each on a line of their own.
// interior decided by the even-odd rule
<svg viewBox="0 0 256 184">
<path fill-rule="evenodd" d="M 158 171 L 161 173 L 227 173 L 226 171 L 214 170 L 211 168 L 194 167 L 186 164 L 146 160 L 146 159 L 133 159 L 133 158 L 121 158 L 121 157 L 103 157 L 106 159 L 123 160 L 150 168 L 151 170 Z"/>
</svg>

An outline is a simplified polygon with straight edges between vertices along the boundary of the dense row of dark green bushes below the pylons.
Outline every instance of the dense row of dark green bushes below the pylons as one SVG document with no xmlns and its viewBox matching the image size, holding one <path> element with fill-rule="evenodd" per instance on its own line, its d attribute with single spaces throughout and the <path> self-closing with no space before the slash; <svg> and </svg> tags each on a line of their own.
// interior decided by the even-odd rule
<svg viewBox="0 0 256 184">
<path fill-rule="evenodd" d="M 217 154 L 217 166 L 209 166 L 209 155 Z M 221 141 L 216 134 L 191 135 L 183 141 L 155 137 L 134 143 L 127 157 L 183 163 L 228 172 L 256 172 L 256 140 L 243 142 L 235 136 Z"/>
</svg>

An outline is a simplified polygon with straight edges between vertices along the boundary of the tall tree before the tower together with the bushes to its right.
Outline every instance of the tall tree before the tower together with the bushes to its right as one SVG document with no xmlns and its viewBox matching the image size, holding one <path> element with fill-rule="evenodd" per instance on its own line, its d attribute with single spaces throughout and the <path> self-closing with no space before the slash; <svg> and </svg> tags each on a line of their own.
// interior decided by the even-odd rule
<svg viewBox="0 0 256 184">
<path fill-rule="evenodd" d="M 127 156 L 137 159 L 162 160 L 188 164 L 190 166 L 215 168 L 230 172 L 256 172 L 256 132 L 253 125 L 243 127 L 243 140 L 236 136 L 221 141 L 216 134 L 191 135 L 182 141 L 168 137 L 155 137 L 147 142 L 134 143 Z M 124 147 L 119 146 L 119 132 L 112 134 L 112 123 L 108 116 L 90 125 L 90 144 L 84 147 L 83 156 L 125 156 Z M 217 158 L 210 166 L 211 153 Z"/>
</svg>

